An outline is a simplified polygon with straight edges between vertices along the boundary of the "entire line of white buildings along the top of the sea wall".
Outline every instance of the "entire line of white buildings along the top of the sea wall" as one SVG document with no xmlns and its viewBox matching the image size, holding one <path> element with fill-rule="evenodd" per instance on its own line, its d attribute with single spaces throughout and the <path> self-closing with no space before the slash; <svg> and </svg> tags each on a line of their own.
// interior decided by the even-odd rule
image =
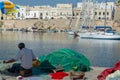
<svg viewBox="0 0 120 80">
<path fill-rule="evenodd" d="M 56 7 L 21 6 L 19 12 L 16 13 L 16 19 L 56 19 L 56 18 L 67 19 L 73 16 L 74 12 L 74 17 L 79 16 L 80 14 L 81 15 L 80 18 L 83 18 L 83 14 L 87 14 L 87 16 L 90 19 L 100 20 L 105 19 L 106 17 L 106 19 L 112 20 L 114 15 L 114 7 L 115 7 L 114 2 L 107 3 L 78 2 L 77 7 L 74 9 L 75 11 L 73 11 L 72 4 L 57 4 Z M 86 9 L 87 12 L 84 13 L 84 10 Z M 78 14 L 79 11 L 80 13 Z"/>
</svg>

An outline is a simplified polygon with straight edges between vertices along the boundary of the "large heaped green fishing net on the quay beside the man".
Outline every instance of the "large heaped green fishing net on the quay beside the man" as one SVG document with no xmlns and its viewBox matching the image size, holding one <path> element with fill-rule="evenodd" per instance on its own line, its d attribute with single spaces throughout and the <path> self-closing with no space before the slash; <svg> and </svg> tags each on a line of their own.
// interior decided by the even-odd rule
<svg viewBox="0 0 120 80">
<path fill-rule="evenodd" d="M 62 65 L 64 71 L 82 71 L 90 70 L 90 61 L 82 54 L 71 49 L 55 50 L 48 55 L 39 56 L 41 62 L 38 67 L 33 68 L 33 74 L 41 72 L 40 70 L 53 70 L 58 65 Z"/>
</svg>

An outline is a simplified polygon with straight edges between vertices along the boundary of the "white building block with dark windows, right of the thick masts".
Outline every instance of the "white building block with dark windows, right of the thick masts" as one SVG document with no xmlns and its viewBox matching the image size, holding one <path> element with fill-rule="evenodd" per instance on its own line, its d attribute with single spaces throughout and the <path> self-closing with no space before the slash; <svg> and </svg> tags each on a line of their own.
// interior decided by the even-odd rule
<svg viewBox="0 0 120 80">
<path fill-rule="evenodd" d="M 107 19 L 112 20 L 114 16 L 115 3 L 96 3 L 95 7 L 95 19 Z"/>
</svg>

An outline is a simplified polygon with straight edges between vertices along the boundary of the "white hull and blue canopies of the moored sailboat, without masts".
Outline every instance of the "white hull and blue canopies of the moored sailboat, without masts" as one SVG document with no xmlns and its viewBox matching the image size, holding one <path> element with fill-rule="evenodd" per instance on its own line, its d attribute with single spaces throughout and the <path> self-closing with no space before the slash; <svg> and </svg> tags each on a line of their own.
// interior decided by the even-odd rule
<svg viewBox="0 0 120 80">
<path fill-rule="evenodd" d="M 104 28 L 105 26 L 100 26 L 100 28 Z M 98 28 L 98 26 L 97 26 Z M 84 32 L 77 33 L 80 38 L 84 39 L 104 39 L 104 40 L 120 40 L 120 35 L 116 33 L 114 30 L 109 30 L 110 27 L 106 27 L 108 30 L 106 31 L 98 31 L 94 30 L 92 32 Z"/>
</svg>

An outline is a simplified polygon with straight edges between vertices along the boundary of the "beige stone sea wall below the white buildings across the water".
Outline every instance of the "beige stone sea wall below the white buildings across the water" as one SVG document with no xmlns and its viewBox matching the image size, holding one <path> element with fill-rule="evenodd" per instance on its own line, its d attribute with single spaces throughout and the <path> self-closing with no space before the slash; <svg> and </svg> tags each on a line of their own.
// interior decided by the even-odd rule
<svg viewBox="0 0 120 80">
<path fill-rule="evenodd" d="M 104 25 L 103 20 L 96 20 L 96 26 Z M 80 29 L 79 25 L 76 27 L 76 19 L 73 19 L 70 26 L 69 19 L 51 19 L 51 20 L 38 20 L 38 19 L 30 19 L 30 20 L 3 20 L 0 23 L 0 28 L 5 29 L 27 29 L 30 27 L 37 27 L 39 30 L 76 30 Z M 106 26 L 112 26 L 113 29 L 120 31 L 119 23 L 115 23 L 113 20 L 107 21 Z"/>
</svg>

